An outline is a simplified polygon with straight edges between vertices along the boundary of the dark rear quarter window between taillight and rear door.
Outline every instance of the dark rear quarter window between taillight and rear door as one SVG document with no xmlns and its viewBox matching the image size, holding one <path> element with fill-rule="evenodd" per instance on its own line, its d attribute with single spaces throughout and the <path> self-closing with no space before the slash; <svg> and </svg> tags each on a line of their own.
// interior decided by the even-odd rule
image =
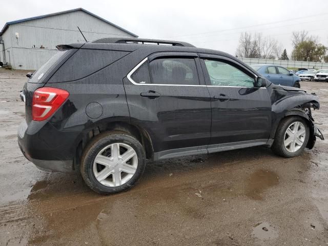
<svg viewBox="0 0 328 246">
<path fill-rule="evenodd" d="M 49 79 L 60 83 L 84 78 L 129 54 L 127 51 L 79 49 Z"/>
</svg>

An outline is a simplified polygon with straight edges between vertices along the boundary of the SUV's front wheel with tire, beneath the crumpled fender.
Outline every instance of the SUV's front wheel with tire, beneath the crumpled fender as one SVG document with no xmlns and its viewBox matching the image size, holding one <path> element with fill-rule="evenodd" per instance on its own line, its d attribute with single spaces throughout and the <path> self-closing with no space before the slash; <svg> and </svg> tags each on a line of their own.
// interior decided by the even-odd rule
<svg viewBox="0 0 328 246">
<path fill-rule="evenodd" d="M 305 120 L 298 116 L 284 118 L 276 131 L 272 151 L 280 156 L 299 156 L 308 144 L 310 129 Z"/>
</svg>

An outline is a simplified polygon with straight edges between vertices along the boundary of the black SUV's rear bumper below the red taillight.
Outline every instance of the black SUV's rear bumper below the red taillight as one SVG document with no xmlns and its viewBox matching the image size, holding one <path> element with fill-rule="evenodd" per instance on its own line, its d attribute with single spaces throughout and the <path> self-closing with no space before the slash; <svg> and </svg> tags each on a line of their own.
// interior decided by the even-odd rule
<svg viewBox="0 0 328 246">
<path fill-rule="evenodd" d="M 44 121 L 24 120 L 19 125 L 18 146 L 34 165 L 46 171 L 72 172 L 79 132 L 60 132 Z"/>
</svg>

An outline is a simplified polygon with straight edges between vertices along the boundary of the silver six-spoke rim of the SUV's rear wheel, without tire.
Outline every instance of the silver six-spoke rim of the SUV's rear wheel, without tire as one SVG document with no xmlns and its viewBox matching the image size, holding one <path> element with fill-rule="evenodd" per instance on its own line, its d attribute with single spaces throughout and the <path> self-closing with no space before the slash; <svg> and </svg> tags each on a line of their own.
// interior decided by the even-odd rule
<svg viewBox="0 0 328 246">
<path fill-rule="evenodd" d="M 115 143 L 98 152 L 93 162 L 93 174 L 101 185 L 118 187 L 133 177 L 137 167 L 135 150 L 127 144 Z"/>
</svg>

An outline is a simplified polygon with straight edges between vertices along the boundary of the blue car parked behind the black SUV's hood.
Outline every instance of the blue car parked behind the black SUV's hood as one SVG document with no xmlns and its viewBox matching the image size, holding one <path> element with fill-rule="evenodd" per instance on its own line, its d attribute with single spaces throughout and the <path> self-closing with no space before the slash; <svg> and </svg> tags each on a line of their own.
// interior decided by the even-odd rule
<svg viewBox="0 0 328 246">
<path fill-rule="evenodd" d="M 272 64 L 256 64 L 251 67 L 273 84 L 300 88 L 300 77 L 286 68 Z"/>
</svg>

